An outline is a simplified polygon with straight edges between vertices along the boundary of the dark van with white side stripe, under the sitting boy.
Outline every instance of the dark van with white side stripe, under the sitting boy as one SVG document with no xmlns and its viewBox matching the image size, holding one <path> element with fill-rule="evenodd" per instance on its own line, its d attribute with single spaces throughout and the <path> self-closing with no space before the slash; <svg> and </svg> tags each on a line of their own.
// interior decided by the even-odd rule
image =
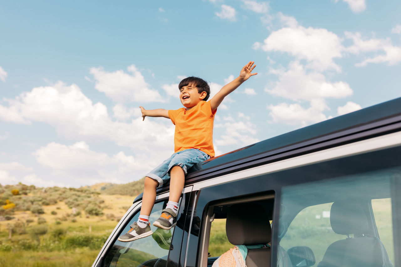
<svg viewBox="0 0 401 267">
<path fill-rule="evenodd" d="M 158 189 L 150 221 L 168 195 Z M 248 267 L 401 266 L 401 98 L 205 161 L 188 172 L 175 227 L 118 241 L 141 199 L 93 267 L 219 266 L 234 245 Z"/>
</svg>

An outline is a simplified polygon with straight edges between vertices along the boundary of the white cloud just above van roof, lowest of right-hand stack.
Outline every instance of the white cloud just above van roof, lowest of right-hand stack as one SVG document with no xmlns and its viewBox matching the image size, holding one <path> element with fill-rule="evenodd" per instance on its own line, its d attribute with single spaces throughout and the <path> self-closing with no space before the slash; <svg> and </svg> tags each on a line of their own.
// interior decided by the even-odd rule
<svg viewBox="0 0 401 267">
<path fill-rule="evenodd" d="M 267 105 L 267 109 L 275 123 L 306 126 L 331 118 L 323 114 L 329 108 L 322 99 L 311 100 L 309 108 L 303 108 L 300 104 L 280 103 Z"/>
</svg>

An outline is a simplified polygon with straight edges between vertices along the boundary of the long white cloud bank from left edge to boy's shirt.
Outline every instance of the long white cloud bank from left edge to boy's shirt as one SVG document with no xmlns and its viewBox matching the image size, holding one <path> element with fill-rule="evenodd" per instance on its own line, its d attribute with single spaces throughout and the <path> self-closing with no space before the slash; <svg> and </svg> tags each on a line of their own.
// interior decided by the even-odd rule
<svg viewBox="0 0 401 267">
<path fill-rule="evenodd" d="M 7 102 L 8 107 L 0 105 L 0 119 L 16 123 L 48 123 L 59 135 L 70 139 L 108 140 L 144 153 L 157 150 L 156 157 L 160 160 L 171 154 L 173 148 L 174 125 L 169 120 L 149 118 L 142 122 L 138 113 L 130 123 L 113 121 L 104 104 L 93 104 L 75 84 L 67 86 L 57 82 L 53 86 L 36 87 L 15 99 L 7 99 Z M 114 111 L 119 118 L 128 116 L 124 115 L 121 106 Z M 135 109 L 126 111 L 130 114 L 138 112 Z"/>
</svg>

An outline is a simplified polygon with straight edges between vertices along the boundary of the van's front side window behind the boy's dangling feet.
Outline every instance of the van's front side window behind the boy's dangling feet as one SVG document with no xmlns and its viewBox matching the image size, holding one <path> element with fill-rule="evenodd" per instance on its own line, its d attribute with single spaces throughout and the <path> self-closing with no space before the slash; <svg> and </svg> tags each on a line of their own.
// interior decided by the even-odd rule
<svg viewBox="0 0 401 267">
<path fill-rule="evenodd" d="M 160 217 L 166 202 L 158 202 L 154 205 L 149 221 L 155 221 Z M 130 225 L 138 220 L 139 211 L 124 226 L 118 235 L 130 230 Z M 150 237 L 141 238 L 132 242 L 121 242 L 115 240 L 113 246 L 105 255 L 103 266 L 128 267 L 128 266 L 166 266 L 167 256 L 170 249 L 171 237 L 174 227 L 170 230 L 163 230 L 154 227 L 150 228 L 153 234 Z"/>
</svg>

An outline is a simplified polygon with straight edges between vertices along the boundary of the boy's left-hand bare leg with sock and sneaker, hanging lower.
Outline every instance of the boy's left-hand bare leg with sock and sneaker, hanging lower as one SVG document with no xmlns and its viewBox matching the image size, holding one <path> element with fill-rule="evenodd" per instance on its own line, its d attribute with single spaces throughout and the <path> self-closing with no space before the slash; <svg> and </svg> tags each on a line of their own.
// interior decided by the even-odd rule
<svg viewBox="0 0 401 267">
<path fill-rule="evenodd" d="M 145 178 L 144 195 L 142 196 L 142 207 L 138 221 L 130 226 L 130 231 L 118 238 L 119 241 L 134 241 L 153 234 L 149 225 L 149 215 L 156 200 L 156 187 L 158 185 L 158 181 L 150 177 Z"/>
</svg>

